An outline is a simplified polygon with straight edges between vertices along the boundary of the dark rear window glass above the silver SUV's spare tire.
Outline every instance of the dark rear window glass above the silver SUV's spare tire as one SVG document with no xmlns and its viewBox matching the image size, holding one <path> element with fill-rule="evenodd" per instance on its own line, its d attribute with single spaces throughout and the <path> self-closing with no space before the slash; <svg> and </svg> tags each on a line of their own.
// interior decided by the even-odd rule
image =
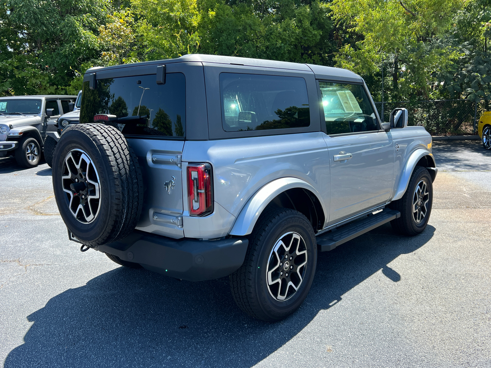
<svg viewBox="0 0 491 368">
<path fill-rule="evenodd" d="M 186 135 L 186 79 L 182 73 L 98 79 L 95 89 L 83 83 L 80 122 L 94 115 L 115 115 L 111 122 L 125 135 L 184 137 Z"/>
</svg>

